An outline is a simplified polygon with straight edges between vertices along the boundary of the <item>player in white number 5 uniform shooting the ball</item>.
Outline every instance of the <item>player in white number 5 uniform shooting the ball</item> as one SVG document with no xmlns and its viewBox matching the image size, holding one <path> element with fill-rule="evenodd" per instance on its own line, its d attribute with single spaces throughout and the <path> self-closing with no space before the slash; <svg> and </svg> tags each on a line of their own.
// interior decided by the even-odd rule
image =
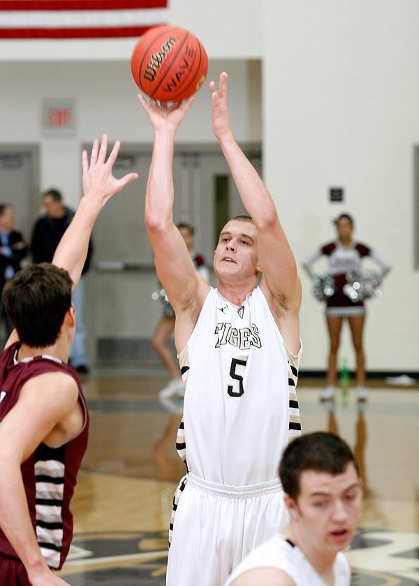
<svg viewBox="0 0 419 586">
<path fill-rule="evenodd" d="M 270 193 L 230 129 L 226 73 L 210 93 L 212 128 L 250 216 L 221 231 L 216 289 L 196 273 L 172 217 L 175 133 L 193 100 L 168 107 L 139 96 L 154 128 L 145 222 L 175 310 L 186 386 L 177 447 L 188 473 L 175 495 L 168 585 L 221 585 L 285 525 L 279 457 L 300 434 L 295 258 Z"/>
</svg>

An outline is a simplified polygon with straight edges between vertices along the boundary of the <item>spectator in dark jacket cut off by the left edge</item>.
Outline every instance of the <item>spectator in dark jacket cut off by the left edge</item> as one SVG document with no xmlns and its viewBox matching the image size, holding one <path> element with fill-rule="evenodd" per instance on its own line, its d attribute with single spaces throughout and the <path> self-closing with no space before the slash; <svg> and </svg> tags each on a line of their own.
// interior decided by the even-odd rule
<svg viewBox="0 0 419 586">
<path fill-rule="evenodd" d="M 0 297 L 3 287 L 18 270 L 20 263 L 29 254 L 29 246 L 22 234 L 15 230 L 15 211 L 10 203 L 0 203 Z M 3 302 L 0 300 L 0 320 L 3 328 L 3 344 L 13 328 Z"/>
</svg>

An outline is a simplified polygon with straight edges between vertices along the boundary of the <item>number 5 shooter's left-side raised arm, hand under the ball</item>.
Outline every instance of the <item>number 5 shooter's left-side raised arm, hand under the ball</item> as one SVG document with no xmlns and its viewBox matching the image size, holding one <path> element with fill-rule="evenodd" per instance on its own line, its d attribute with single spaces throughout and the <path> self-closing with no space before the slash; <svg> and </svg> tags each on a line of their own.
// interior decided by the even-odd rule
<svg viewBox="0 0 419 586">
<path fill-rule="evenodd" d="M 182 235 L 173 222 L 173 152 L 175 134 L 193 98 L 180 105 L 149 103 L 138 98 L 154 129 L 152 162 L 145 195 L 145 225 L 154 251 L 157 274 L 175 312 L 196 298 L 205 285 L 196 274 Z"/>
</svg>

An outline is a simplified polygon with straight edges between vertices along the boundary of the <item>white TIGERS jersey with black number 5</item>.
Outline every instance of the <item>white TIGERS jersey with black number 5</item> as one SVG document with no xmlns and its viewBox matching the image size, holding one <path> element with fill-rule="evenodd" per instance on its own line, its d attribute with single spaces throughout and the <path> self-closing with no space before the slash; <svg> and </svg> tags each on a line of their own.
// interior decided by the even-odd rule
<svg viewBox="0 0 419 586">
<path fill-rule="evenodd" d="M 212 483 L 247 486 L 278 477 L 290 436 L 300 435 L 291 356 L 265 296 L 241 307 L 211 288 L 179 364 L 186 386 L 177 448 L 188 470 Z"/>
</svg>

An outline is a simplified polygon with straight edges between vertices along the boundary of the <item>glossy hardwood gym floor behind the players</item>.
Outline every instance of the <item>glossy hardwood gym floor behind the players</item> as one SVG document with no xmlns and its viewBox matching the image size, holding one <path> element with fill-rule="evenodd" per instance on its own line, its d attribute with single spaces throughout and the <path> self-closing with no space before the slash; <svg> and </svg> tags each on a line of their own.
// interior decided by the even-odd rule
<svg viewBox="0 0 419 586">
<path fill-rule="evenodd" d="M 172 495 L 184 474 L 175 451 L 182 402 L 159 402 L 162 372 L 102 369 L 83 381 L 89 447 L 60 576 L 72 586 L 163 586 Z M 419 383 L 369 385 L 369 400 L 335 406 L 318 383 L 297 388 L 304 432 L 338 432 L 365 478 L 358 534 L 347 552 L 355 586 L 419 585 Z M 199 585 L 179 585 L 199 586 Z"/>
</svg>

